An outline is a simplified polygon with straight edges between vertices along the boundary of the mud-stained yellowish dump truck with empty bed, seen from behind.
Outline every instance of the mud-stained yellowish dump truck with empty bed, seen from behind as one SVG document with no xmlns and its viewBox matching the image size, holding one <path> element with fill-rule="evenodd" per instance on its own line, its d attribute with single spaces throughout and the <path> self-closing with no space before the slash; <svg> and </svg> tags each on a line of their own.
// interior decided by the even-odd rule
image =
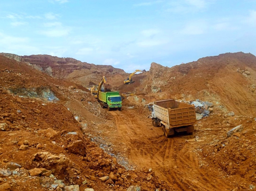
<svg viewBox="0 0 256 191">
<path fill-rule="evenodd" d="M 196 123 L 195 107 L 174 99 L 158 100 L 151 107 L 151 119 L 153 126 L 162 127 L 166 137 L 174 135 L 174 131 L 193 134 L 193 125 Z"/>
</svg>

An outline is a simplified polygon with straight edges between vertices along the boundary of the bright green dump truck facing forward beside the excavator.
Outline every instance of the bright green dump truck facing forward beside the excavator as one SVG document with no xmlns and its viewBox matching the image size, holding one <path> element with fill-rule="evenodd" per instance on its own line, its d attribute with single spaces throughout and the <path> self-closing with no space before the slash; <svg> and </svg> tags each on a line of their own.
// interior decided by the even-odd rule
<svg viewBox="0 0 256 191">
<path fill-rule="evenodd" d="M 101 104 L 102 108 L 108 108 L 108 111 L 111 109 L 118 109 L 121 111 L 122 108 L 122 99 L 119 95 L 119 92 L 101 92 L 98 93 L 98 101 Z"/>
</svg>

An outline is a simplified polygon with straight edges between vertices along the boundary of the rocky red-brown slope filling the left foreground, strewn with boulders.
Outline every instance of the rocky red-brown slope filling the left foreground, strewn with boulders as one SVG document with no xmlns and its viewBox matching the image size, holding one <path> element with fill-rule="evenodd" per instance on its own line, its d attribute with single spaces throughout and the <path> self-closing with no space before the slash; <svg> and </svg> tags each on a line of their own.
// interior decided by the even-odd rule
<svg viewBox="0 0 256 191">
<path fill-rule="evenodd" d="M 167 188 L 151 170 L 125 169 L 112 145 L 103 150 L 87 133 L 114 127 L 86 90 L 0 55 L 1 191 Z"/>
</svg>

